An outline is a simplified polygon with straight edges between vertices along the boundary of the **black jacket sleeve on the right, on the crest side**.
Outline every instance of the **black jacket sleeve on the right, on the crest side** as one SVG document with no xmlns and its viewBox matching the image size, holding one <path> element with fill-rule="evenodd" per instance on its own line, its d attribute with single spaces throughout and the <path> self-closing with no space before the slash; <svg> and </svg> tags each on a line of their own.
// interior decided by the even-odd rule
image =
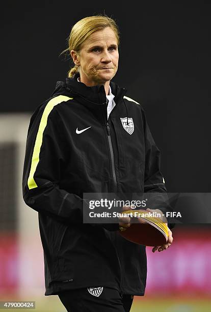
<svg viewBox="0 0 211 312">
<path fill-rule="evenodd" d="M 152 203 L 152 209 L 160 209 L 165 215 L 172 212 L 172 206 L 168 199 L 165 180 L 160 170 L 161 151 L 157 148 L 150 132 L 146 115 L 143 111 L 143 124 L 145 136 L 145 173 L 144 173 L 144 193 L 150 193 L 148 204 Z M 167 221 L 169 222 L 169 218 Z M 174 223 L 169 223 L 169 228 L 174 227 Z"/>
</svg>

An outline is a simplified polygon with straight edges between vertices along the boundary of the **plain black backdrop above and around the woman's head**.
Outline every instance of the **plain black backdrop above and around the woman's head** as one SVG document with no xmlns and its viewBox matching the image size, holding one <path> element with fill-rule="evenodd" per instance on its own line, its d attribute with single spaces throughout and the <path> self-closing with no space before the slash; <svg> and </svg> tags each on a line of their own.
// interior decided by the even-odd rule
<svg viewBox="0 0 211 312">
<path fill-rule="evenodd" d="M 113 81 L 142 103 L 168 191 L 210 192 L 210 6 L 146 3 L 2 3 L 0 113 L 32 113 L 47 99 L 67 75 L 59 55 L 72 25 L 104 12 L 121 32 Z"/>
</svg>

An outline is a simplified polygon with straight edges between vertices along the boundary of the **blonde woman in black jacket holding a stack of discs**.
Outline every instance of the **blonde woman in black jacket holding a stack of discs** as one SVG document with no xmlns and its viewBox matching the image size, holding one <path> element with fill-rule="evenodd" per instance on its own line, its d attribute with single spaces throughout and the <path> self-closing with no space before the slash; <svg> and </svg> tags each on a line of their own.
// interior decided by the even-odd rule
<svg viewBox="0 0 211 312">
<path fill-rule="evenodd" d="M 144 111 L 111 82 L 118 45 L 113 19 L 78 21 L 68 47 L 74 67 L 28 131 L 23 198 L 39 213 L 45 295 L 58 294 L 68 311 L 129 311 L 146 285 L 145 246 L 119 235 L 129 218 L 84 224 L 83 193 L 166 192 Z M 169 230 L 153 251 L 171 243 Z"/>
</svg>

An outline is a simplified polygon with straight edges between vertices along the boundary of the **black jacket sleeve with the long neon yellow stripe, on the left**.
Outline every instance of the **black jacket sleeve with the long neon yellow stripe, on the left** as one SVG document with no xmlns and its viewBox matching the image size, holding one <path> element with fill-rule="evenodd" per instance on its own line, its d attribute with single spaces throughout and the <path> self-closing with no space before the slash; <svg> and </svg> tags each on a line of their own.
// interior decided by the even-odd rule
<svg viewBox="0 0 211 312">
<path fill-rule="evenodd" d="M 23 199 L 32 209 L 62 223 L 83 223 L 83 205 L 88 209 L 88 202 L 59 187 L 67 153 L 61 128 L 62 121 L 55 108 L 47 118 L 42 107 L 33 114 L 25 149 Z M 117 228 L 116 224 L 114 228 L 110 224 L 101 226 L 109 230 Z"/>
</svg>

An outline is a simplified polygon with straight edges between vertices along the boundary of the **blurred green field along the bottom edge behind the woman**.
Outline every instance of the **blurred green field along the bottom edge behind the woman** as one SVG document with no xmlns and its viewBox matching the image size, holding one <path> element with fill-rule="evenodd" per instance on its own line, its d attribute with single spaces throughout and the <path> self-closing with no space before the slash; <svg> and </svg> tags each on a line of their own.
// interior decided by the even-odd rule
<svg viewBox="0 0 211 312">
<path fill-rule="evenodd" d="M 194 297 L 194 296 L 193 296 Z M 9 298 L 7 298 L 8 300 Z M 2 298 L 1 301 L 6 300 Z M 18 300 L 17 298 L 10 300 Z M 39 298 L 24 298 L 19 300 L 36 301 L 36 308 L 32 311 L 36 312 L 66 312 L 57 296 L 39 297 Z M 1 309 L 8 311 L 8 309 Z M 13 309 L 13 311 L 26 311 L 26 309 Z M 130 312 L 210 312 L 211 300 L 208 298 L 161 298 L 157 297 L 134 297 L 133 306 Z"/>
</svg>

